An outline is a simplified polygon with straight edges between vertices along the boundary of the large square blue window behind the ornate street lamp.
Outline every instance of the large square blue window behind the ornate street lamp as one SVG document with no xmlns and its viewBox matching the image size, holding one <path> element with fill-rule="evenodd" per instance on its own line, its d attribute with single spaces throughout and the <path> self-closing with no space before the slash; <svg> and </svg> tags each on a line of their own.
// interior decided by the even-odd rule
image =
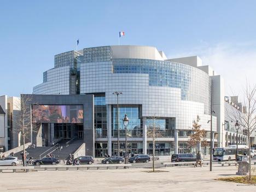
<svg viewBox="0 0 256 192">
<path fill-rule="evenodd" d="M 112 110 L 112 136 L 118 135 L 118 110 L 113 107 Z M 140 118 L 139 106 L 119 107 L 119 137 L 125 137 L 125 127 L 123 126 L 124 115 L 127 114 L 129 118 L 129 125 L 127 126 L 127 137 L 142 137 L 142 123 Z"/>
</svg>

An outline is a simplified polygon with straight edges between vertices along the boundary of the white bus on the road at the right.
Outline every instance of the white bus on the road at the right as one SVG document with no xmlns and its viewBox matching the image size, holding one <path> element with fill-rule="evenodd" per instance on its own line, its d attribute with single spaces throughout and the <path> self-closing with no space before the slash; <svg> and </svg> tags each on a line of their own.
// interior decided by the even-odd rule
<svg viewBox="0 0 256 192">
<path fill-rule="evenodd" d="M 245 145 L 238 145 L 238 155 L 249 155 L 249 148 Z M 214 148 L 213 161 L 231 161 L 236 160 L 236 145 L 229 147 Z"/>
</svg>

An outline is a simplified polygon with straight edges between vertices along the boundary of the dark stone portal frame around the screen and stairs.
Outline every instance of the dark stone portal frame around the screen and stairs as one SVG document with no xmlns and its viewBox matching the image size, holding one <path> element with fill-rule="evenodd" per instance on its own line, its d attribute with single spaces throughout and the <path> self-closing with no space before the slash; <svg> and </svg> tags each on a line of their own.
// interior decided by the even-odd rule
<svg viewBox="0 0 256 192">
<path fill-rule="evenodd" d="M 45 105 L 68 105 L 77 104 L 83 105 L 84 109 L 84 142 L 86 155 L 94 157 L 94 95 L 35 95 L 35 94 L 21 94 L 22 98 L 29 97 L 30 100 L 27 110 L 31 109 L 32 104 Z M 32 131 L 32 142 L 36 139 L 37 133 Z M 31 139 L 28 139 L 30 141 Z"/>
</svg>

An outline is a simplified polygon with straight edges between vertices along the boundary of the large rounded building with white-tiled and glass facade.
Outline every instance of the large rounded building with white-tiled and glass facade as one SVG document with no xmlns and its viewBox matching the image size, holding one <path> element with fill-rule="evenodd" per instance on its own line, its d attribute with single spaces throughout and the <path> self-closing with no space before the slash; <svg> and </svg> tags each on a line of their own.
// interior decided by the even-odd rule
<svg viewBox="0 0 256 192">
<path fill-rule="evenodd" d="M 118 97 L 119 120 L 115 91 L 123 93 Z M 94 126 L 88 129 L 94 131 L 95 156 L 117 154 L 118 122 L 119 148 L 124 152 L 125 114 L 130 119 L 127 148 L 131 154 L 152 153 L 152 138 L 146 132 L 153 117 L 162 130 L 162 137 L 156 139 L 156 154 L 194 152 L 188 138 L 197 115 L 207 131 L 205 152 L 209 151 L 211 97 L 216 112 L 212 122 L 214 146 L 226 143 L 226 130 L 222 129 L 224 81 L 210 66 L 202 66 L 197 56 L 167 59 L 163 51 L 152 46 L 133 45 L 68 51 L 55 55 L 55 67 L 43 73 L 43 83 L 33 88 L 33 94 L 93 94 L 94 107 L 90 110 L 94 111 Z M 56 139 L 72 139 L 70 134 L 65 135 L 69 124 L 55 124 L 51 127 L 61 127 L 51 130 Z M 246 136 L 242 137 L 246 142 Z"/>
</svg>

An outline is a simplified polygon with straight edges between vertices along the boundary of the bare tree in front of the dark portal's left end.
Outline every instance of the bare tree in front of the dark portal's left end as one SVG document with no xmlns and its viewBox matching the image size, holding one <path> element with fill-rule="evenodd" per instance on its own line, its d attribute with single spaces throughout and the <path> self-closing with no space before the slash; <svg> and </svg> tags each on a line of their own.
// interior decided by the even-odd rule
<svg viewBox="0 0 256 192">
<path fill-rule="evenodd" d="M 36 123 L 32 122 L 32 112 L 31 112 L 31 96 L 21 96 L 20 98 L 20 105 L 16 106 L 19 108 L 19 112 L 16 114 L 16 120 L 15 124 L 16 126 L 13 128 L 13 132 L 15 132 L 17 135 L 21 136 L 21 142 L 23 145 L 22 150 L 22 159 L 23 159 L 23 165 L 26 166 L 26 150 L 25 150 L 25 144 L 26 141 L 31 140 L 32 135 L 32 127 L 36 127 Z"/>
</svg>

